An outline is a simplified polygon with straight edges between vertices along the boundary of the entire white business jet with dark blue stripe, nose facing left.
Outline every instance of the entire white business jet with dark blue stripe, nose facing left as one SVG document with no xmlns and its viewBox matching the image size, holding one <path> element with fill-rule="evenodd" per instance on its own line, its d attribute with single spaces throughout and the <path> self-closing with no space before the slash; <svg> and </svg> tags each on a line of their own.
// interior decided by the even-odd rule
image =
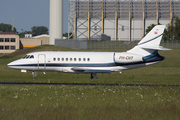
<svg viewBox="0 0 180 120">
<path fill-rule="evenodd" d="M 96 79 L 97 73 L 133 69 L 152 65 L 164 60 L 158 50 L 165 25 L 155 26 L 134 48 L 127 52 L 54 52 L 29 53 L 7 66 L 29 71 L 58 71 L 69 73 L 90 73 Z"/>
</svg>

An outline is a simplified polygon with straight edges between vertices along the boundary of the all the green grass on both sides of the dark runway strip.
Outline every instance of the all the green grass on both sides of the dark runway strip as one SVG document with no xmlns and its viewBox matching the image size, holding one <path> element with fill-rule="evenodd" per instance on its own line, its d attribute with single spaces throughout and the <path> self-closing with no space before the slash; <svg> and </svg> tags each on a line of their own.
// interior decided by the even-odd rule
<svg viewBox="0 0 180 120">
<path fill-rule="evenodd" d="M 13 60 L 32 51 L 72 49 L 39 46 L 0 55 L 0 81 L 47 83 L 108 83 L 180 85 L 180 49 L 160 51 L 166 59 L 148 67 L 113 74 L 37 72 L 21 73 L 7 67 Z M 73 50 L 74 51 L 74 50 Z M 76 50 L 88 51 L 88 50 Z M 89 50 L 107 51 L 107 50 Z M 108 50 L 108 51 L 126 51 Z M 0 85 L 0 118 L 11 119 L 179 119 L 180 87 L 126 87 L 126 86 L 25 86 Z"/>
</svg>

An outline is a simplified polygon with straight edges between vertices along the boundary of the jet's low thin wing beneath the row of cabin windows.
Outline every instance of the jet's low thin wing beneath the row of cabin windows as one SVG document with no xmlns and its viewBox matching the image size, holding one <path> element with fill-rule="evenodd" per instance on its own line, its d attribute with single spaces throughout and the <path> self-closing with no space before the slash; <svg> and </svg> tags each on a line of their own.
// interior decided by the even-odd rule
<svg viewBox="0 0 180 120">
<path fill-rule="evenodd" d="M 111 70 L 99 70 L 99 69 L 72 68 L 72 70 L 84 72 L 84 73 L 111 73 Z"/>
</svg>

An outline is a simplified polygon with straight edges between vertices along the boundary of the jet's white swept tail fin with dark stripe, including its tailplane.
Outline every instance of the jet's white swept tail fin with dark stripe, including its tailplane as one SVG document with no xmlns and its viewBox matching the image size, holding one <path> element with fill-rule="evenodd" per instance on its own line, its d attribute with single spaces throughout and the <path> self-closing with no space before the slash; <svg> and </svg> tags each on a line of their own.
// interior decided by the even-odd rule
<svg viewBox="0 0 180 120">
<path fill-rule="evenodd" d="M 159 46 L 164 29 L 165 25 L 155 26 L 134 48 L 127 52 L 147 56 L 156 50 L 170 50 Z"/>
</svg>

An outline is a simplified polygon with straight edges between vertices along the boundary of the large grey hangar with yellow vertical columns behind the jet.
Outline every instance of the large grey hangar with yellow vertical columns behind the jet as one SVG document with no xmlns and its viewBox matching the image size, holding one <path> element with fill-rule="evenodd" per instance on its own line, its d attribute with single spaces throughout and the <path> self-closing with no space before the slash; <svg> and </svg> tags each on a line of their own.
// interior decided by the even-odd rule
<svg viewBox="0 0 180 120">
<path fill-rule="evenodd" d="M 151 24 L 180 18 L 180 0 L 69 0 L 68 33 L 78 40 L 140 40 Z M 69 38 L 71 34 L 69 34 Z"/>
</svg>

